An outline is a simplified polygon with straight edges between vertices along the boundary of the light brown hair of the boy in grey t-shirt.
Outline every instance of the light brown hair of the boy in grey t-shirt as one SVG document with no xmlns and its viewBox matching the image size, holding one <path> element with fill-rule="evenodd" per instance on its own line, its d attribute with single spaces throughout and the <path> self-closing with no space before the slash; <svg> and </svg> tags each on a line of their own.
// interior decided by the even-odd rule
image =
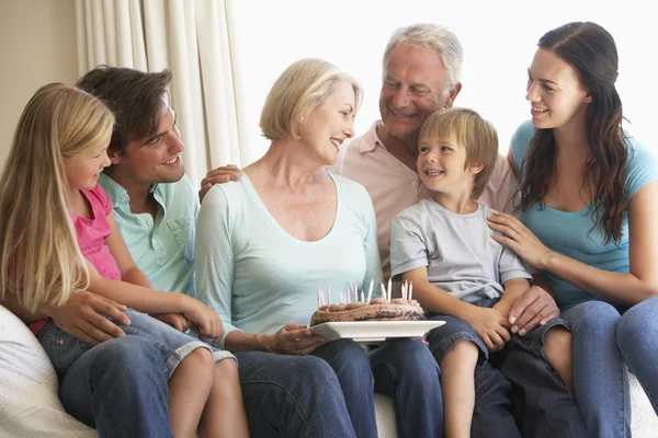
<svg viewBox="0 0 658 438">
<path fill-rule="evenodd" d="M 469 108 L 447 108 L 432 113 L 422 124 L 419 140 L 453 136 L 466 148 L 464 169 L 483 165 L 473 183 L 473 199 L 484 192 L 498 159 L 498 134 L 494 125 Z"/>
</svg>

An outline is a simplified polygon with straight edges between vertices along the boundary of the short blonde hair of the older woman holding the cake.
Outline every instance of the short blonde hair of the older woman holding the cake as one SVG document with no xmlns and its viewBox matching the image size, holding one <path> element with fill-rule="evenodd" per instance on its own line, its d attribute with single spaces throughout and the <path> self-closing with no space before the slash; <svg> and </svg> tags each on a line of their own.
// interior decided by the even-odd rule
<svg viewBox="0 0 658 438">
<path fill-rule="evenodd" d="M 293 62 L 276 79 L 263 105 L 259 123 L 263 137 L 269 140 L 286 137 L 298 139 L 302 120 L 342 81 L 354 90 L 356 112 L 363 92 L 351 76 L 322 59 L 308 58 Z"/>
</svg>

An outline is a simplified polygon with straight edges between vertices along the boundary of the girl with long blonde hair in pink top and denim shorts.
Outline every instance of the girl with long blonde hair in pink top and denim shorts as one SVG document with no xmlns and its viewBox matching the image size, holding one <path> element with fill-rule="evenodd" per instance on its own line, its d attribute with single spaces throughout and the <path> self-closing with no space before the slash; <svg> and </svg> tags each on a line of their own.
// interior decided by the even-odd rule
<svg viewBox="0 0 658 438">
<path fill-rule="evenodd" d="M 140 313 L 181 313 L 202 339 L 218 339 L 224 332 L 218 315 L 200 301 L 137 286 L 148 279 L 98 185 L 110 164 L 113 124 L 101 101 L 59 83 L 43 87 L 27 103 L 0 181 L 0 299 L 38 313 L 87 289 L 135 309 L 126 310 L 131 324 L 122 328 L 127 337 L 152 339 L 162 357 L 173 436 L 192 437 L 198 428 L 202 436 L 246 437 L 237 366 L 224 360 L 235 357 Z M 53 320 L 31 328 L 60 379 L 93 348 Z"/>
</svg>

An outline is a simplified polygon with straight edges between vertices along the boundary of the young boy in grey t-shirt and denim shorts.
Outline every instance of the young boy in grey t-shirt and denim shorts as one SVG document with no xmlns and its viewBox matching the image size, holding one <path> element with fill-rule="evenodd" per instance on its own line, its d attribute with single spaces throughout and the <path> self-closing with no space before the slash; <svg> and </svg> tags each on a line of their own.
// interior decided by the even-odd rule
<svg viewBox="0 0 658 438">
<path fill-rule="evenodd" d="M 511 303 L 532 276 L 491 238 L 492 210 L 474 200 L 498 154 L 494 126 L 472 110 L 438 111 L 421 128 L 419 152 L 418 173 L 432 198 L 393 220 L 392 275 L 412 281 L 426 312 L 446 321 L 428 336 L 441 366 L 445 434 L 468 437 L 476 365 L 509 343 L 547 360 L 571 389 L 571 336 L 559 319 L 523 337 L 509 332 Z"/>
</svg>

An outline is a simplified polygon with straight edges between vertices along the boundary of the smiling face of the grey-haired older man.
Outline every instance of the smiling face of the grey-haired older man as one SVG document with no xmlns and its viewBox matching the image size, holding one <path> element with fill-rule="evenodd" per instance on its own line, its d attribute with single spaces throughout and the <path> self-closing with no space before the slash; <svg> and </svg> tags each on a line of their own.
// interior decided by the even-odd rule
<svg viewBox="0 0 658 438">
<path fill-rule="evenodd" d="M 451 107 L 461 85 L 445 90 L 445 66 L 438 53 L 399 44 L 390 50 L 379 93 L 379 112 L 386 134 L 416 145 L 424 119 Z"/>
</svg>

